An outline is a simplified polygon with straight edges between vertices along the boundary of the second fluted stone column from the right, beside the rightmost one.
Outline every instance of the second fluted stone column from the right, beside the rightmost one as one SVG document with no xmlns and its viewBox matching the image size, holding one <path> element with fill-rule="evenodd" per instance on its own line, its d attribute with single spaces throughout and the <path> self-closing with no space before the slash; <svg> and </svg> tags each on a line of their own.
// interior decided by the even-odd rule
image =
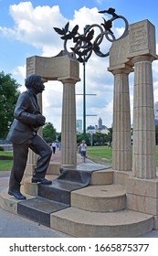
<svg viewBox="0 0 158 256">
<path fill-rule="evenodd" d="M 115 69 L 112 128 L 112 169 L 132 170 L 131 113 L 128 75 L 132 68 Z"/>
</svg>

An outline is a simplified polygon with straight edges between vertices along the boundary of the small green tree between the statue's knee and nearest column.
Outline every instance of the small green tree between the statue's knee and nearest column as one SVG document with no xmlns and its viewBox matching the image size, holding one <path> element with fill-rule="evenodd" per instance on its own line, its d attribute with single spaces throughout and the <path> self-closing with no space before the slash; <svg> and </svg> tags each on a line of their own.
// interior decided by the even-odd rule
<svg viewBox="0 0 158 256">
<path fill-rule="evenodd" d="M 43 126 L 43 138 L 47 143 L 52 143 L 56 140 L 56 129 L 52 123 L 46 123 Z"/>
</svg>

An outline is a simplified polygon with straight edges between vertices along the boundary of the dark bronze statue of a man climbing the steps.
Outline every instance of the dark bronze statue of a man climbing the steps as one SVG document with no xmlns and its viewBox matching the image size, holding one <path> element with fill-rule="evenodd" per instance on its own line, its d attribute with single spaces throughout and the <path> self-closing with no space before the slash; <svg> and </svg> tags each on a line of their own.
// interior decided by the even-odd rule
<svg viewBox="0 0 158 256">
<path fill-rule="evenodd" d="M 13 143 L 14 163 L 9 180 L 8 194 L 17 199 L 26 199 L 20 192 L 20 183 L 24 176 L 28 148 L 38 155 L 37 166 L 32 182 L 50 185 L 45 178 L 52 151 L 47 143 L 37 134 L 39 127 L 45 124 L 46 118 L 41 114 L 37 94 L 45 90 L 42 78 L 31 75 L 26 79 L 26 91 L 22 92 L 16 102 L 15 120 L 7 135 Z"/>
</svg>

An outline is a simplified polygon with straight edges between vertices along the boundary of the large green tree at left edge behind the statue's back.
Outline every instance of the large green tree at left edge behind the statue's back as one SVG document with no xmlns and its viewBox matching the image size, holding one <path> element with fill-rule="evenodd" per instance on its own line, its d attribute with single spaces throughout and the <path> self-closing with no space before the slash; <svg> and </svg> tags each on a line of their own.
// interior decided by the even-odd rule
<svg viewBox="0 0 158 256">
<path fill-rule="evenodd" d="M 21 85 L 10 74 L 0 72 L 0 138 L 5 139 L 14 120 L 16 101 Z"/>
</svg>

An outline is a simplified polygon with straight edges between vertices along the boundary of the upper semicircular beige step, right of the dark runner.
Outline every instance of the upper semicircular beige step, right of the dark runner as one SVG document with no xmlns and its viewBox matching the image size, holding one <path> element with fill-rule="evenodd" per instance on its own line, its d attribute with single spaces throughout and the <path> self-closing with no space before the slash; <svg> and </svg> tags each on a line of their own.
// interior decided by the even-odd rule
<svg viewBox="0 0 158 256">
<path fill-rule="evenodd" d="M 71 192 L 74 208 L 106 212 L 126 208 L 126 190 L 121 185 L 89 186 Z"/>
</svg>

